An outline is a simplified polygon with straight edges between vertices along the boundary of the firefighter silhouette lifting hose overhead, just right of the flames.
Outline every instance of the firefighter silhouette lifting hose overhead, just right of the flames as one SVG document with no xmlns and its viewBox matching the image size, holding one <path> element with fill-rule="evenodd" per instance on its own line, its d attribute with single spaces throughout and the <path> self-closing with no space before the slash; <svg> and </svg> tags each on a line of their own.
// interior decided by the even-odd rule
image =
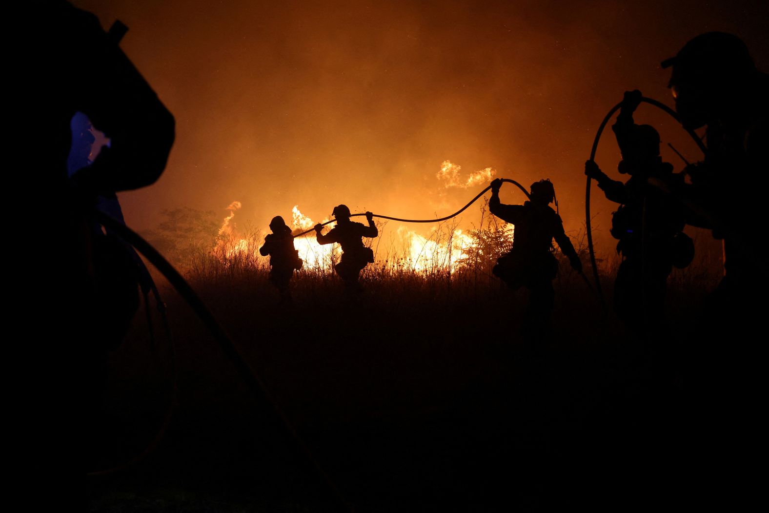
<svg viewBox="0 0 769 513">
<path fill-rule="evenodd" d="M 524 333 L 539 337 L 547 331 L 553 311 L 553 279 L 558 275 L 558 261 L 552 253 L 553 238 L 569 258 L 571 267 L 582 271 L 582 262 L 564 233 L 561 216 L 548 206 L 555 198 L 549 180 L 531 184 L 531 201 L 523 205 L 502 205 L 499 201 L 501 185 L 499 178 L 491 182 L 489 211 L 515 225 L 515 234 L 513 248 L 498 259 L 493 272 L 514 290 L 521 286 L 529 289 Z"/>
</svg>

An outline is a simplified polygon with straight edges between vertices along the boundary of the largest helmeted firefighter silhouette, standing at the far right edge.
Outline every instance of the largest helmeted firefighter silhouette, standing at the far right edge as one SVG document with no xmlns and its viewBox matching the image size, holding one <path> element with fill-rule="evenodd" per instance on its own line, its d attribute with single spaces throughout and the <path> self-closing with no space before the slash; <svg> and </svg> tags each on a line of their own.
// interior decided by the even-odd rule
<svg viewBox="0 0 769 513">
<path fill-rule="evenodd" d="M 763 255 L 769 185 L 769 75 L 758 71 L 735 35 L 708 32 L 674 58 L 669 87 L 684 126 L 707 126 L 703 162 L 687 167 L 682 196 L 688 222 L 724 241 L 724 277 L 682 353 L 688 399 L 688 491 L 708 490 L 703 505 L 747 509 L 762 500 L 754 461 L 767 457 Z M 703 451 L 703 448 L 707 448 Z M 697 508 L 698 505 L 693 505 Z"/>
</svg>

